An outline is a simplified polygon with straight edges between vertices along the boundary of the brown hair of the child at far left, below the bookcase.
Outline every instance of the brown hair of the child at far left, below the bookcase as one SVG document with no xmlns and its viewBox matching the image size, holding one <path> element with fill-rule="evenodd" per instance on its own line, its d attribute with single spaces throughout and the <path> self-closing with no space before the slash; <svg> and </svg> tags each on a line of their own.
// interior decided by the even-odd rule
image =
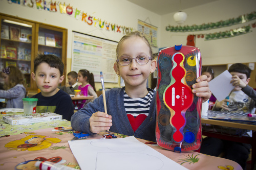
<svg viewBox="0 0 256 170">
<path fill-rule="evenodd" d="M 10 88 L 13 88 L 17 84 L 23 84 L 25 86 L 25 81 L 24 81 L 24 75 L 22 74 L 22 71 L 18 69 L 18 67 L 14 66 L 8 66 L 10 68 L 10 74 L 9 76 L 9 83 L 4 85 L 4 89 L 8 90 Z"/>
</svg>

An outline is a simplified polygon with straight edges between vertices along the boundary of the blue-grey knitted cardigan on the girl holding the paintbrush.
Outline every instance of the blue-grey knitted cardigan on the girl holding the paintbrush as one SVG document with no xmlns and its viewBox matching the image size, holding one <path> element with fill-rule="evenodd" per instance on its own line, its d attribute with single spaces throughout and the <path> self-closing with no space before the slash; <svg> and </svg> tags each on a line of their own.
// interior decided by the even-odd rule
<svg viewBox="0 0 256 170">
<path fill-rule="evenodd" d="M 110 131 L 129 136 L 134 135 L 137 138 L 145 140 L 156 141 L 156 92 L 154 91 L 154 96 L 150 105 L 150 112 L 148 113 L 147 118 L 135 132 L 133 132 L 132 126 L 125 112 L 123 92 L 124 87 L 112 88 L 105 92 L 106 108 L 108 114 L 112 116 L 112 126 L 110 127 Z M 102 95 L 73 114 L 71 117 L 72 128 L 79 132 L 93 134 L 90 131 L 89 118 L 97 111 L 105 112 Z"/>
</svg>

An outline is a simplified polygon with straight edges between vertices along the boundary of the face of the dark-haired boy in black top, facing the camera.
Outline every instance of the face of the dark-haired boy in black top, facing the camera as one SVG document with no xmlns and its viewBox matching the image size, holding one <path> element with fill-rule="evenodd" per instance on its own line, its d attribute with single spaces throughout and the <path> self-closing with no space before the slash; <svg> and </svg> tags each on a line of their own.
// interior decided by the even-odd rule
<svg viewBox="0 0 256 170">
<path fill-rule="evenodd" d="M 41 90 L 43 96 L 53 96 L 58 92 L 58 84 L 64 79 L 60 76 L 59 69 L 50 67 L 47 63 L 40 63 L 37 66 L 36 72 L 31 74 L 37 87 Z"/>
</svg>

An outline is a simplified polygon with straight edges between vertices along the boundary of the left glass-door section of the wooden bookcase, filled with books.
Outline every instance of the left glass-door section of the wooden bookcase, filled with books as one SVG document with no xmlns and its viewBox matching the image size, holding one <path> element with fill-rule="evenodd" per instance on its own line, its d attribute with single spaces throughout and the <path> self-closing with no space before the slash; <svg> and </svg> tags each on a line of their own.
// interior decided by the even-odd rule
<svg viewBox="0 0 256 170">
<path fill-rule="evenodd" d="M 31 73 L 31 52 L 34 51 L 35 23 L 0 15 L 1 53 L 0 71 L 8 66 L 18 67 L 24 74 Z M 27 53 L 26 53 L 27 52 Z M 31 76 L 25 76 L 27 90 L 31 88 Z"/>
</svg>

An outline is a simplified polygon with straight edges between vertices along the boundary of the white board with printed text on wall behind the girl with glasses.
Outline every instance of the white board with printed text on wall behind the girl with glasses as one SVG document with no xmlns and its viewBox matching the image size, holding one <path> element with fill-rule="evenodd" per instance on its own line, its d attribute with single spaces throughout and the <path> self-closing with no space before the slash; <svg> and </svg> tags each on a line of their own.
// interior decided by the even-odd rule
<svg viewBox="0 0 256 170">
<path fill-rule="evenodd" d="M 100 82 L 102 71 L 104 82 L 118 83 L 113 69 L 118 42 L 73 31 L 72 43 L 72 71 L 87 69 L 93 73 L 95 82 Z"/>
</svg>

